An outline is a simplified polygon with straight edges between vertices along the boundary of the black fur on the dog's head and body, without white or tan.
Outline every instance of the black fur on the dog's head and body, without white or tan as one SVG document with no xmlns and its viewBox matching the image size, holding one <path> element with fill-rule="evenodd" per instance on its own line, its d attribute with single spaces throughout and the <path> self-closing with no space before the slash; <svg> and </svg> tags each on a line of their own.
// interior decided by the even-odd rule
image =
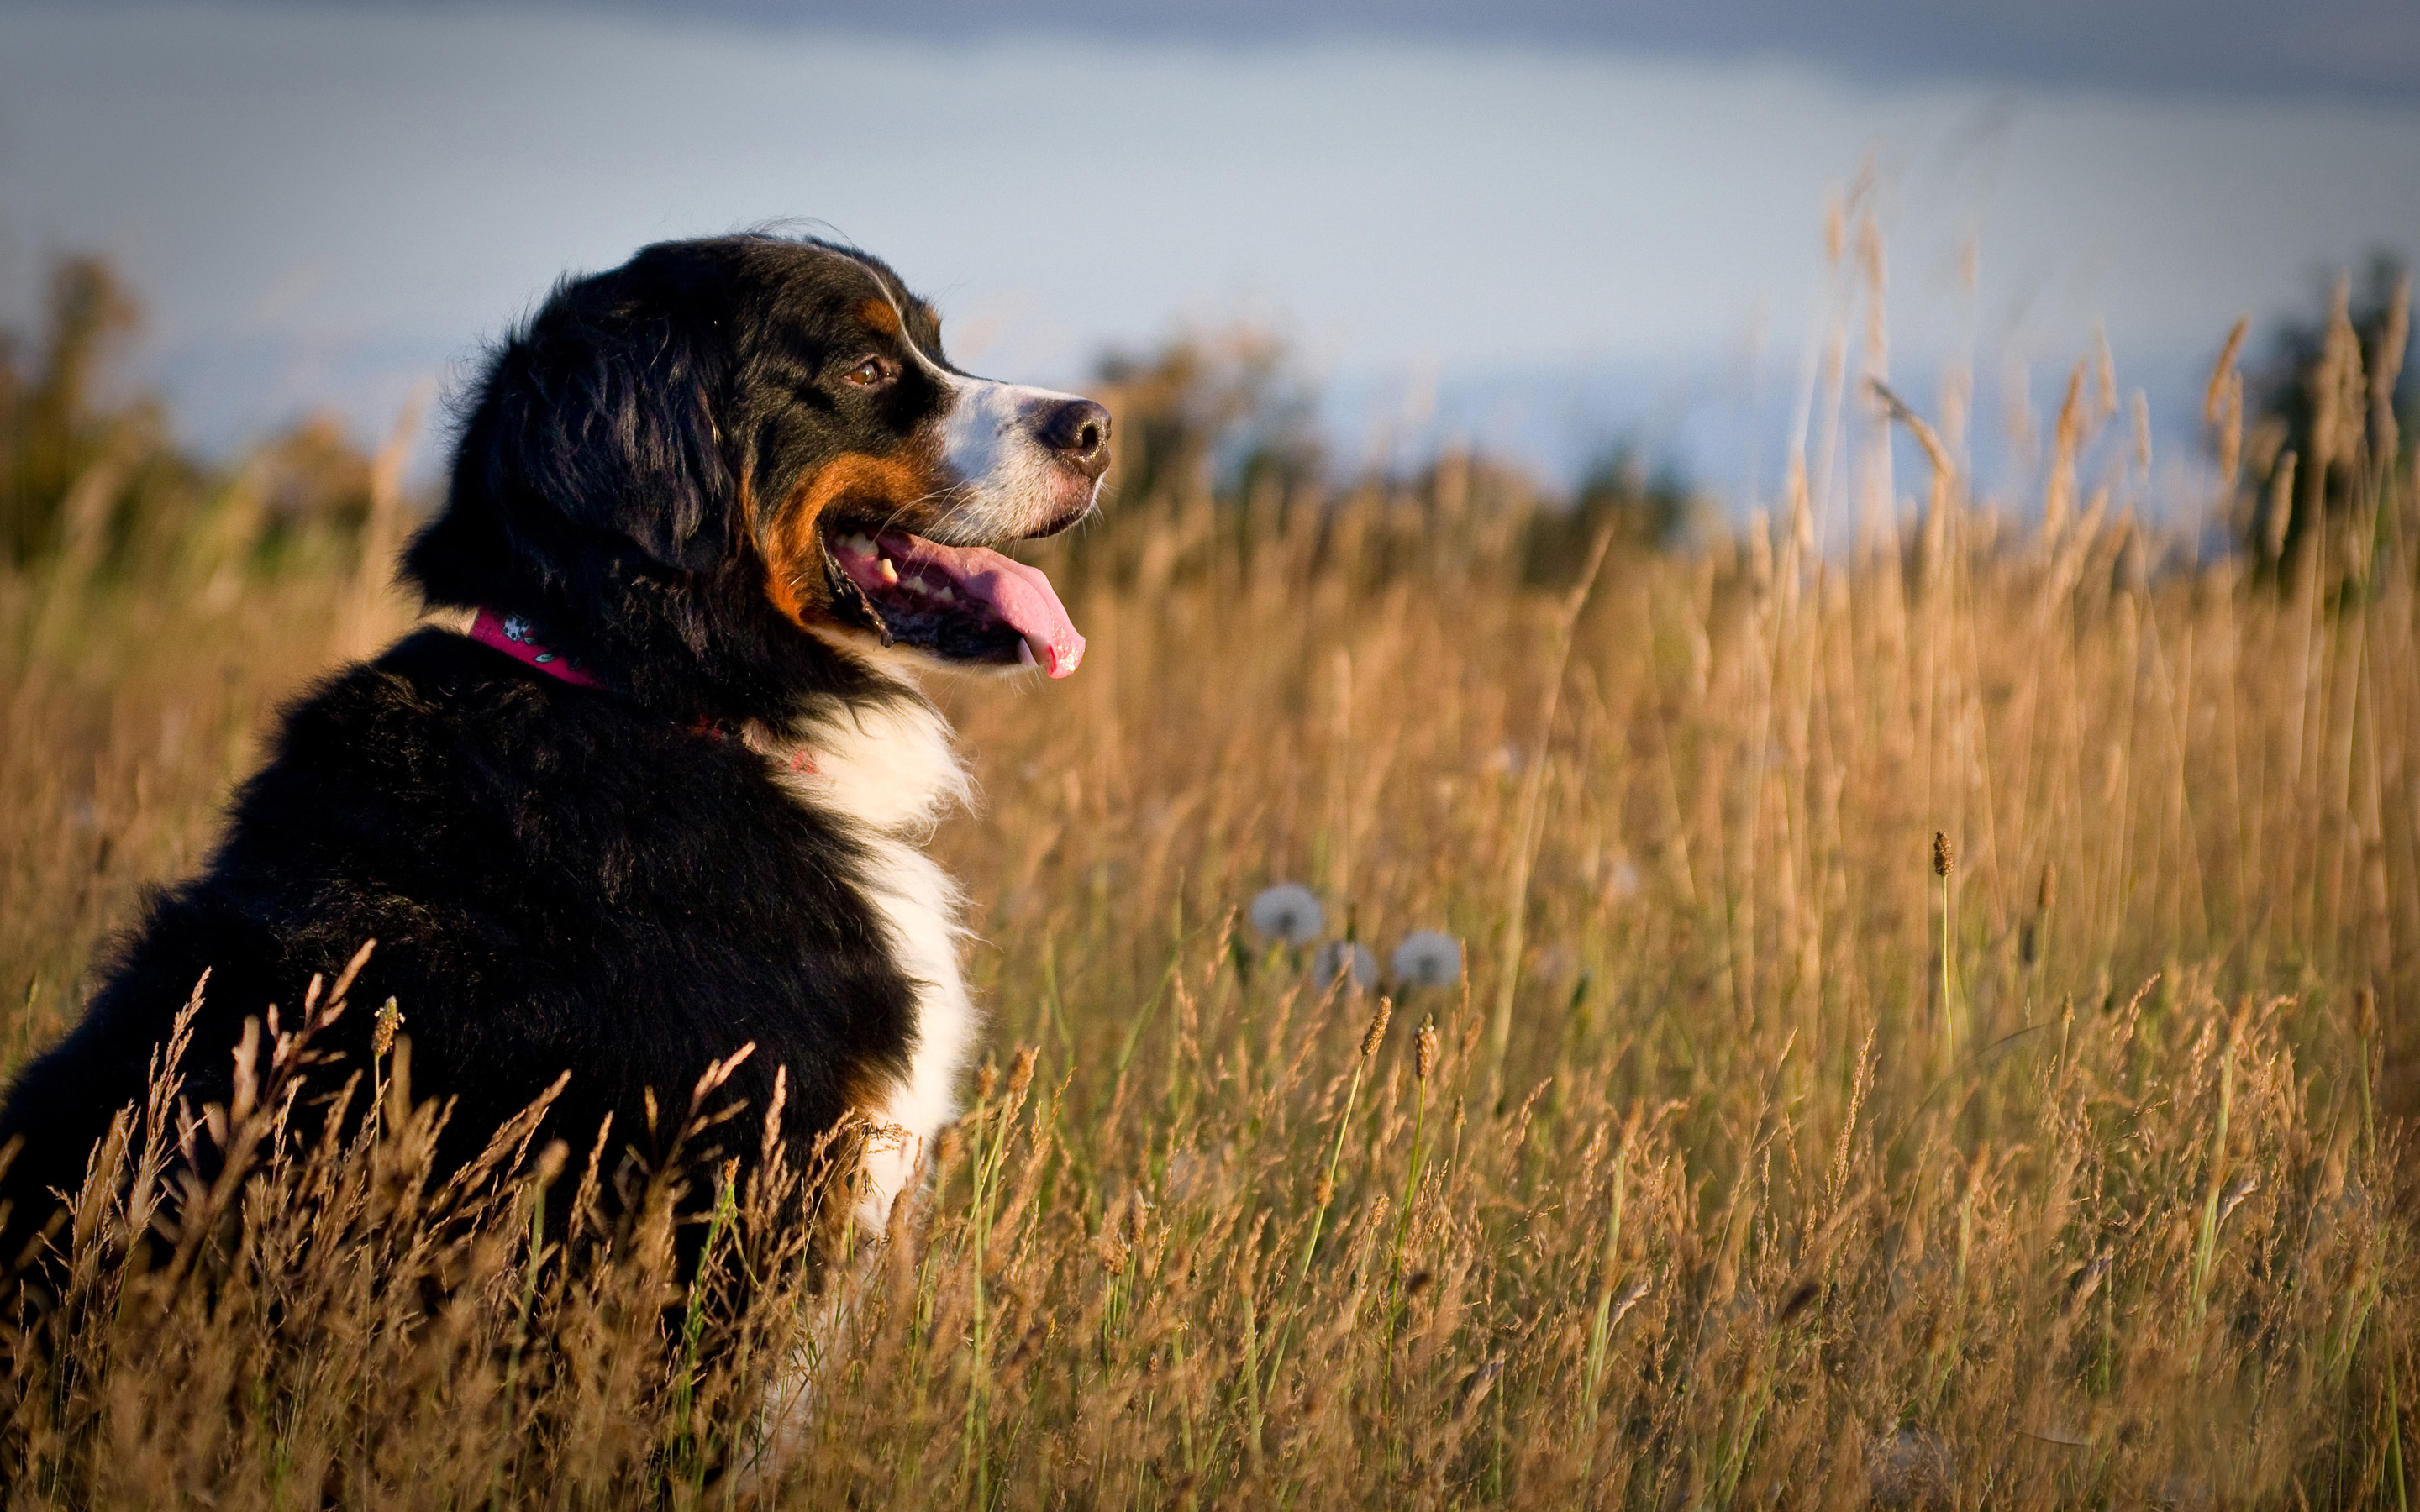
<svg viewBox="0 0 2420 1512">
<path fill-rule="evenodd" d="M 881 300 L 927 360 L 862 392 L 849 363 L 905 351 Z M 394 997 L 414 1096 L 457 1103 L 448 1164 L 566 1069 L 547 1135 L 586 1152 L 610 1113 L 651 1154 L 646 1091 L 678 1115 L 753 1043 L 728 1086 L 750 1113 L 719 1152 L 743 1161 L 777 1072 L 799 1154 L 903 1074 L 912 987 L 854 885 L 849 820 L 801 806 L 733 733 L 917 697 L 818 634 L 862 627 L 862 595 L 801 544 L 828 523 L 784 510 L 845 457 L 946 494 L 927 477 L 956 373 L 927 370 L 939 351 L 888 269 L 818 242 L 675 242 L 557 288 L 469 394 L 404 573 L 431 605 L 528 617 L 600 685 L 421 629 L 295 702 L 203 873 L 150 900 L 0 1110 L 22 1144 L 0 1251 L 80 1183 L 206 968 L 194 1106 L 227 1101 L 244 1018 L 293 1014 L 375 939 L 319 1077 L 368 1064 L 370 1009 Z M 939 506 L 825 508 L 917 525 Z"/>
</svg>

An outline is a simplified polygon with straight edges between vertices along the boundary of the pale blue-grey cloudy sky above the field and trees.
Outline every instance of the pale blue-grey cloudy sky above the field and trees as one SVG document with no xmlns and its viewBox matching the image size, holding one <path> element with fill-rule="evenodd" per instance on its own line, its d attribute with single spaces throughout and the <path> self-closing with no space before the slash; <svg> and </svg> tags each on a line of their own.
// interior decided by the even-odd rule
<svg viewBox="0 0 2420 1512">
<path fill-rule="evenodd" d="M 1745 489 L 1866 160 L 1914 387 L 1977 351 L 2050 404 L 2103 322 L 2180 443 L 2238 312 L 2420 252 L 2408 5 L 1934 10 L 0 0 L 0 310 L 99 247 L 196 438 L 373 433 L 561 271 L 791 220 L 895 261 L 1002 377 L 1254 317 L 1343 455 L 1568 474 L 1638 435 Z"/>
</svg>

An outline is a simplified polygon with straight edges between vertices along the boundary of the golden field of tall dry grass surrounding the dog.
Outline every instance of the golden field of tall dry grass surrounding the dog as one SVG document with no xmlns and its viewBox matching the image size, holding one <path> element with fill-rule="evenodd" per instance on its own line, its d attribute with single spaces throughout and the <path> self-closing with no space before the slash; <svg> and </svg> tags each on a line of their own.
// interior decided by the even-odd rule
<svg viewBox="0 0 2420 1512">
<path fill-rule="evenodd" d="M 1542 552 L 1454 457 L 1123 501 L 1043 556 L 1084 670 L 944 692 L 992 1050 L 842 1282 L 755 1190 L 736 1318 L 661 1193 L 532 1251 L 588 1152 L 433 1190 L 392 1093 L 281 1147 L 264 1050 L 189 1135 L 261 1152 L 208 1243 L 136 1275 L 145 1183 L 90 1185 L 10 1352 L 10 1502 L 2405 1507 L 2410 474 L 2200 561 L 2079 382 L 2042 525 L 1951 469 L 1820 554 L 1895 496 L 1832 373 L 1863 445 L 1687 554 Z M 0 576 L 10 1064 L 276 702 L 409 619 L 380 508 L 276 569 L 220 515 Z M 1321 985 L 1249 919 L 1273 883 L 1462 977 Z"/>
</svg>

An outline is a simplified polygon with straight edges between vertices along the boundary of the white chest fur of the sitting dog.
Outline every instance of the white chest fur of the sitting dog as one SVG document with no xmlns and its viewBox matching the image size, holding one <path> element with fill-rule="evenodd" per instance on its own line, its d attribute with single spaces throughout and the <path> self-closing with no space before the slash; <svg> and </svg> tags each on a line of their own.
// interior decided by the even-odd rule
<svg viewBox="0 0 2420 1512">
<path fill-rule="evenodd" d="M 970 784 L 951 745 L 949 721 L 912 694 L 866 709 L 842 706 L 786 735 L 750 735 L 753 745 L 772 752 L 774 769 L 801 803 L 857 830 L 866 847 L 859 888 L 891 936 L 900 975 L 915 989 L 908 1079 L 881 1103 L 864 1108 L 874 1135 L 866 1147 L 866 1198 L 857 1217 L 881 1231 L 891 1202 L 958 1115 L 958 1072 L 980 1028 L 958 968 L 966 898 L 924 854 L 934 825 L 951 806 L 968 801 Z M 784 752 L 806 760 L 784 760 Z"/>
</svg>

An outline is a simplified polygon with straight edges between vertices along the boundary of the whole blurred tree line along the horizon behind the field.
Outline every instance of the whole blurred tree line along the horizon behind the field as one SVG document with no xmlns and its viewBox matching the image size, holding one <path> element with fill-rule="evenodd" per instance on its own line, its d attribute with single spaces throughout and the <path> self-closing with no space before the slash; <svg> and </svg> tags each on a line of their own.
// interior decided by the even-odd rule
<svg viewBox="0 0 2420 1512">
<path fill-rule="evenodd" d="M 2403 363 L 2408 324 L 2405 266 L 2376 256 L 2360 281 L 2338 278 L 2316 314 L 2282 319 L 2241 375 L 2236 530 L 2255 561 L 2292 559 L 2314 525 L 2369 508 L 2379 479 L 2410 460 L 2420 385 Z M 375 547 L 365 532 L 392 532 L 399 457 L 382 474 L 327 414 L 235 460 L 179 443 L 165 404 L 123 382 L 140 329 L 140 302 L 106 259 L 63 256 L 39 331 L 0 331 L 0 566 L 273 571 L 356 564 Z M 1111 351 L 1094 392 L 1116 414 L 1116 508 L 1111 530 L 1070 542 L 1079 573 L 1171 571 L 1210 544 L 1249 559 L 1256 539 L 1377 520 L 1406 561 L 1452 532 L 1529 583 L 1561 585 L 1600 537 L 1672 552 L 1713 518 L 1679 469 L 1650 467 L 1629 443 L 1602 450 L 1568 491 L 1459 450 L 1401 477 L 1346 474 L 1321 440 L 1316 382 L 1254 327 Z M 2212 404 L 2217 419 L 2217 385 Z M 1384 539 L 1370 544 L 1355 559 L 1387 571 Z"/>
</svg>

